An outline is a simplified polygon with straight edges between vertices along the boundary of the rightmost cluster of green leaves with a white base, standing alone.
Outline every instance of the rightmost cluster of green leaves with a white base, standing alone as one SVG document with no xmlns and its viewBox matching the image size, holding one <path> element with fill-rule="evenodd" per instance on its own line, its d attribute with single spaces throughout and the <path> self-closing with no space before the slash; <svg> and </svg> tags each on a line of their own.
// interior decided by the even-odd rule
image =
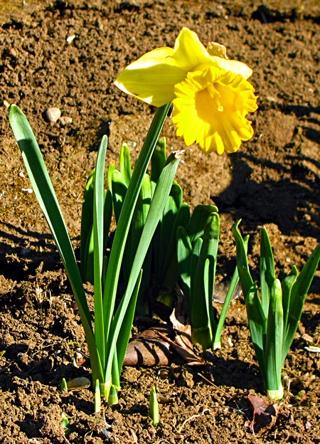
<svg viewBox="0 0 320 444">
<path fill-rule="evenodd" d="M 233 227 L 237 245 L 237 263 L 242 290 L 245 295 L 247 319 L 252 343 L 260 366 L 267 394 L 281 399 L 283 388 L 281 371 L 284 359 L 297 332 L 306 294 L 316 273 L 320 259 L 320 245 L 316 247 L 299 274 L 295 266 L 280 282 L 274 273 L 274 258 L 265 228 L 260 238 L 260 294 L 253 282 L 247 263 L 245 241 L 238 225 Z"/>
</svg>

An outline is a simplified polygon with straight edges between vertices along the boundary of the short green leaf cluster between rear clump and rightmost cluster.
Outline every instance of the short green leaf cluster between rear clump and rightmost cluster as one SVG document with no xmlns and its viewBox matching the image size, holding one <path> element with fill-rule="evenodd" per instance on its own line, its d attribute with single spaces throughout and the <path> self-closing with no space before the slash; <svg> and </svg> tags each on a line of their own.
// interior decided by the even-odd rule
<svg viewBox="0 0 320 444">
<path fill-rule="evenodd" d="M 201 344 L 203 349 L 220 348 L 225 316 L 239 282 L 236 268 L 217 323 L 213 292 L 219 238 L 220 218 L 213 205 L 196 206 L 186 227 L 178 227 L 178 268 L 191 317 L 193 344 Z"/>
</svg>

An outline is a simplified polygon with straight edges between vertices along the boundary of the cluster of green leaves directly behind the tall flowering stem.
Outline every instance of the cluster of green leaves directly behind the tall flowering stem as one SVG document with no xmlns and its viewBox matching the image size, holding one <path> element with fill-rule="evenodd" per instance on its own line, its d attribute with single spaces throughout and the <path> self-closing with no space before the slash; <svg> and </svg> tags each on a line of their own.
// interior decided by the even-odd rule
<svg viewBox="0 0 320 444">
<path fill-rule="evenodd" d="M 144 229 L 151 201 L 154 198 L 154 192 L 166 162 L 166 139 L 162 137 L 157 142 L 151 157 L 151 174 L 146 173 L 144 175 L 142 188 L 129 228 L 127 243 L 124 249 L 124 260 L 122 262 L 124 282 L 128 281 L 128 270 L 132 267 L 139 238 Z M 110 164 L 108 169 L 108 184 L 117 223 L 131 180 L 131 171 L 132 164 L 129 148 L 127 144 L 123 144 L 119 156 L 119 170 L 115 168 L 114 164 Z M 178 282 L 176 231 L 178 226 L 186 226 L 190 218 L 190 209 L 182 200 L 183 192 L 181 186 L 174 181 L 142 266 L 144 273 L 137 300 L 137 312 L 139 314 L 152 312 L 149 304 L 149 289 L 151 286 L 154 287 L 154 295 L 157 297 L 161 289 L 172 289 L 176 282 Z M 105 202 L 107 202 L 107 196 Z M 161 300 L 161 296 L 159 299 Z"/>
</svg>

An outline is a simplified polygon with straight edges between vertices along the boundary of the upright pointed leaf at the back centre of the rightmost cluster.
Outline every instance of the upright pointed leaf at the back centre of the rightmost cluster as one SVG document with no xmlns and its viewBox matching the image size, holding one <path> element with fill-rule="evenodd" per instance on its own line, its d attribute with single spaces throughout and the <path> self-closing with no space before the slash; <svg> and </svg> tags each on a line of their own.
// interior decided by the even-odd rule
<svg viewBox="0 0 320 444">
<path fill-rule="evenodd" d="M 260 233 L 260 285 L 262 310 L 265 317 L 269 311 L 270 293 L 275 279 L 274 258 L 272 248 L 265 227 L 261 228 Z"/>
</svg>

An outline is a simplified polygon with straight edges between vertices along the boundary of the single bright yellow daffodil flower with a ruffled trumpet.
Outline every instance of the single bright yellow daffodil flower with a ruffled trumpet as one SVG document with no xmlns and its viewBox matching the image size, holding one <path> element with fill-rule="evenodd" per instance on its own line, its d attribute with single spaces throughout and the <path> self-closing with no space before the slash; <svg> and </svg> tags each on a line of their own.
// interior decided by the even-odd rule
<svg viewBox="0 0 320 444">
<path fill-rule="evenodd" d="M 248 112 L 257 109 L 254 89 L 247 81 L 252 70 L 229 60 L 225 47 L 209 43 L 183 28 L 173 48 L 144 54 L 114 82 L 124 93 L 160 107 L 172 101 L 177 135 L 203 152 L 235 152 L 253 135 Z"/>
</svg>

